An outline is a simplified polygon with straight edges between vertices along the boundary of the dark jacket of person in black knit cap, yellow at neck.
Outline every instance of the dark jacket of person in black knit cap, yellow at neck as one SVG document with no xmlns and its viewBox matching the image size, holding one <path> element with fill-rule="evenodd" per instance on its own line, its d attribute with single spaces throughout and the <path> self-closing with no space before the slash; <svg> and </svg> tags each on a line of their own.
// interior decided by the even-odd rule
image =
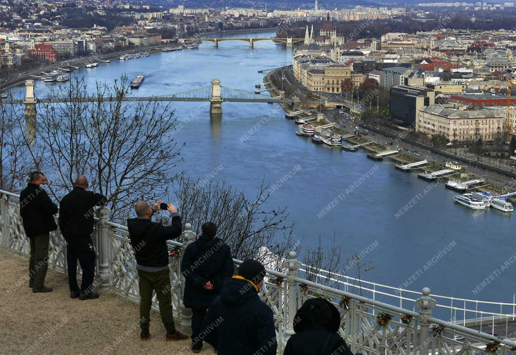
<svg viewBox="0 0 516 355">
<path fill-rule="evenodd" d="M 249 281 L 225 279 L 201 329 L 219 355 L 276 355 L 272 311 Z"/>
</svg>

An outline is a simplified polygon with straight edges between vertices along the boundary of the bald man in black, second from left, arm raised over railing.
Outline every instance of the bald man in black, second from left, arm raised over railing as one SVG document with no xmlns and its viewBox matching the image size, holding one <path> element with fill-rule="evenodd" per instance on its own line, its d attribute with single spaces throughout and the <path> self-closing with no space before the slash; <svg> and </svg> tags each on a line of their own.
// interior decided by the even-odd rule
<svg viewBox="0 0 516 355">
<path fill-rule="evenodd" d="M 91 241 L 93 234 L 93 207 L 106 203 L 100 193 L 88 191 L 86 176 L 79 175 L 73 183 L 73 190 L 59 203 L 59 228 L 67 241 L 68 285 L 70 298 L 80 300 L 99 298 L 93 291 L 95 275 L 95 249 Z M 77 285 L 77 260 L 83 269 L 83 280 Z"/>
</svg>

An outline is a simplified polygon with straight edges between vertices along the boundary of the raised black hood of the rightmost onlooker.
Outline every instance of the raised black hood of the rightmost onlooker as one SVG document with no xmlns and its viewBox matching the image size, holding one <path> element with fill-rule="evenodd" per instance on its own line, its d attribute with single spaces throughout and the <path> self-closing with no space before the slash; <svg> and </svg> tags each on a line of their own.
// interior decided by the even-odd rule
<svg viewBox="0 0 516 355">
<path fill-rule="evenodd" d="M 296 312 L 294 331 L 300 333 L 312 329 L 324 329 L 336 333 L 341 325 L 337 308 L 322 298 L 311 298 Z"/>
</svg>

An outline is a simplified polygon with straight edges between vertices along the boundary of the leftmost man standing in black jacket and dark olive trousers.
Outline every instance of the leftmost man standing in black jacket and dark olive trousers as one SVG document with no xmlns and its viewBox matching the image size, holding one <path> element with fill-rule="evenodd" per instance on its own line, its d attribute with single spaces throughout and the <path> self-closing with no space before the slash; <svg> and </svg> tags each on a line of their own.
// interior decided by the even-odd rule
<svg viewBox="0 0 516 355">
<path fill-rule="evenodd" d="M 49 267 L 50 232 L 57 229 L 54 215 L 57 205 L 41 188 L 46 185 L 45 175 L 40 171 L 29 174 L 29 183 L 20 193 L 20 215 L 23 229 L 30 241 L 29 287 L 34 293 L 52 292 L 44 285 Z"/>
</svg>

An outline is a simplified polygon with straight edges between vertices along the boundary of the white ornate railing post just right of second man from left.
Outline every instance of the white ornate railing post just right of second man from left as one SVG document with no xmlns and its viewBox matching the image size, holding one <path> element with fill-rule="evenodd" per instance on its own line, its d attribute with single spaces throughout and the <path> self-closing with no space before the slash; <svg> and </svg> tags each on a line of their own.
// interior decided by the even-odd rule
<svg viewBox="0 0 516 355">
<path fill-rule="evenodd" d="M 109 213 L 107 207 L 100 208 L 100 221 L 97 229 L 99 245 L 99 289 L 107 290 L 111 286 L 111 270 L 109 261 L 111 260 L 111 240 L 109 237 Z"/>
</svg>

